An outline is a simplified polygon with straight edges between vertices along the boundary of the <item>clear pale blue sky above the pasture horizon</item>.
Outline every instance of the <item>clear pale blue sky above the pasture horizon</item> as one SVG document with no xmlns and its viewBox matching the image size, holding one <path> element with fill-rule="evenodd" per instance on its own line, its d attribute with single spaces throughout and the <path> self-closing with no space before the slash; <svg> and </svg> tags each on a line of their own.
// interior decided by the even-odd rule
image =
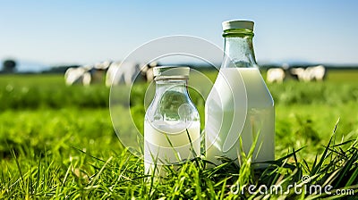
<svg viewBox="0 0 358 200">
<path fill-rule="evenodd" d="M 3 1 L 0 60 L 122 60 L 149 40 L 190 35 L 223 46 L 221 22 L 255 21 L 259 63 L 358 63 L 352 1 Z M 205 51 L 205 49 L 203 49 Z M 219 62 L 221 54 L 216 55 Z"/>
</svg>

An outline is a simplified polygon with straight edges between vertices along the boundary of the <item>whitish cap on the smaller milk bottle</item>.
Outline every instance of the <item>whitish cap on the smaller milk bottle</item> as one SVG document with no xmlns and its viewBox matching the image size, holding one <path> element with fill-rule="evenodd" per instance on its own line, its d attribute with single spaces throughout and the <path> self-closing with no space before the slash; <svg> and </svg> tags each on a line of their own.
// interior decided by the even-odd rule
<svg viewBox="0 0 358 200">
<path fill-rule="evenodd" d="M 160 66 L 153 68 L 154 77 L 189 77 L 189 67 L 185 66 Z"/>
</svg>

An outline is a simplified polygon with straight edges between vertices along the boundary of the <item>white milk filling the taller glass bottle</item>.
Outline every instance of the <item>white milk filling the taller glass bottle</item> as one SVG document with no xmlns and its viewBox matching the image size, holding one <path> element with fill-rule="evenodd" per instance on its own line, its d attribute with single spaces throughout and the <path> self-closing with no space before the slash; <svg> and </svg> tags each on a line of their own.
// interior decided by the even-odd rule
<svg viewBox="0 0 358 200">
<path fill-rule="evenodd" d="M 257 68 L 221 69 L 205 110 L 206 156 L 210 162 L 220 164 L 216 156 L 222 155 L 237 159 L 241 152 L 239 136 L 248 154 L 259 132 L 253 162 L 275 159 L 275 108 Z"/>
</svg>

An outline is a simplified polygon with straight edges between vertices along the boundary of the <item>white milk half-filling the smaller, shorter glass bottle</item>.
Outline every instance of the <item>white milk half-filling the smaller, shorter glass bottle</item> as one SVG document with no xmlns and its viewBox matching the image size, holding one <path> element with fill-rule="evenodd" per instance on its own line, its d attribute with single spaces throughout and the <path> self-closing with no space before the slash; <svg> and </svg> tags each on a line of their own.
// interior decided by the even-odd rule
<svg viewBox="0 0 358 200">
<path fill-rule="evenodd" d="M 192 140 L 190 143 L 186 129 Z M 170 141 L 170 142 L 169 142 Z M 164 121 L 144 122 L 144 170 L 152 174 L 157 163 L 157 175 L 165 175 L 163 164 L 175 164 L 200 155 L 200 121 L 171 124 Z"/>
</svg>

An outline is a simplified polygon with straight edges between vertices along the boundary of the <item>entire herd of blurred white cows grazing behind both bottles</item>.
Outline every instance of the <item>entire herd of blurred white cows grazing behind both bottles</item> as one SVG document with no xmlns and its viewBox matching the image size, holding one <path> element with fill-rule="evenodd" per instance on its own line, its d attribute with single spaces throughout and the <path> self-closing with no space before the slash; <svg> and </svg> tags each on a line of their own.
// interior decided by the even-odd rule
<svg viewBox="0 0 358 200">
<path fill-rule="evenodd" d="M 77 68 L 69 68 L 64 73 L 66 85 L 81 84 L 89 86 L 92 83 L 106 83 L 107 87 L 113 85 L 131 85 L 134 80 L 141 79 L 152 81 L 153 67 L 158 63 L 133 63 L 133 62 L 103 62 L 94 65 L 84 65 Z M 270 68 L 267 71 L 268 83 L 282 83 L 286 74 L 300 81 L 320 81 L 325 77 L 326 69 L 323 65 L 307 68 Z"/>
</svg>

